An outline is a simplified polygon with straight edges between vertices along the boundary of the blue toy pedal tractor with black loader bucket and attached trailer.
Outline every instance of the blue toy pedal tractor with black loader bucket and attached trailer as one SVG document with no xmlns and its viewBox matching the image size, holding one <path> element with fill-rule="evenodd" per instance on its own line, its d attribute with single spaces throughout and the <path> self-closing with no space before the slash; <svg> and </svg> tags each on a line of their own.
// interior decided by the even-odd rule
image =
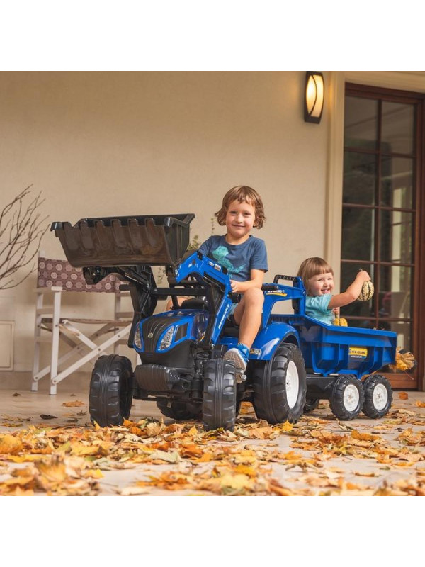
<svg viewBox="0 0 425 567">
<path fill-rule="evenodd" d="M 81 267 L 88 283 L 118 274 L 130 291 L 134 318 L 128 346 L 140 355 L 132 369 L 127 357 L 100 357 L 91 376 L 91 420 L 120 425 L 132 398 L 155 400 L 166 417 L 200 419 L 207 430 L 233 430 L 240 404 L 251 401 L 269 423 L 296 422 L 318 400 L 330 400 L 341 420 L 363 409 L 382 417 L 392 393 L 383 376 L 365 374 L 395 361 L 393 332 L 334 327 L 305 315 L 299 278 L 276 276 L 263 285 L 261 328 L 249 364 L 237 383 L 234 364 L 223 359 L 236 346 L 229 325 L 232 288 L 227 270 L 193 252 L 187 256 L 195 215 L 86 218 L 75 225 L 53 223 L 68 261 Z M 168 286 L 158 287 L 152 266 L 164 266 Z M 280 280 L 291 281 L 283 285 Z M 171 296 L 173 309 L 154 315 L 158 300 Z M 181 306 L 177 298 L 190 296 Z M 273 314 L 278 301 L 292 301 L 293 315 Z M 307 369 L 307 371 L 306 371 Z M 306 400 L 307 396 L 307 400 Z"/>
</svg>

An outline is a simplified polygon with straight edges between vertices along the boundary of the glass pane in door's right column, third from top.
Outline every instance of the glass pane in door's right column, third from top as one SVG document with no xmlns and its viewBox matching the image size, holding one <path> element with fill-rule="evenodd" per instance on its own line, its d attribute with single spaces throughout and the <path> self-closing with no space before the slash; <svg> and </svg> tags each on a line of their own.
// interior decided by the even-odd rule
<svg viewBox="0 0 425 567">
<path fill-rule="evenodd" d="M 380 262 L 411 264 L 413 213 L 380 211 Z"/>
</svg>

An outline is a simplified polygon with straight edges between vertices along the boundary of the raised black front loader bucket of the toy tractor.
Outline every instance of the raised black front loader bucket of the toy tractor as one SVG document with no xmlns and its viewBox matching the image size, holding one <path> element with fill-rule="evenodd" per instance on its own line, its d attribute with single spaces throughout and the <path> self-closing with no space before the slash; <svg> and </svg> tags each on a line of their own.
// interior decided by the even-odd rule
<svg viewBox="0 0 425 567">
<path fill-rule="evenodd" d="M 88 266 L 179 264 L 189 244 L 193 213 L 83 218 L 52 223 L 68 262 Z"/>
</svg>

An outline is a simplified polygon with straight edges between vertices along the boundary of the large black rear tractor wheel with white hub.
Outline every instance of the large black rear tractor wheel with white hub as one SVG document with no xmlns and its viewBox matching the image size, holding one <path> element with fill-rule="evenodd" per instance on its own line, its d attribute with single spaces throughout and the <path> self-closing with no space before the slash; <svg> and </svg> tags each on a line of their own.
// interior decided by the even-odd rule
<svg viewBox="0 0 425 567">
<path fill-rule="evenodd" d="M 253 386 L 252 405 L 259 419 L 268 423 L 297 422 L 307 392 L 300 349 L 295 344 L 281 344 L 271 360 L 256 365 Z"/>
</svg>

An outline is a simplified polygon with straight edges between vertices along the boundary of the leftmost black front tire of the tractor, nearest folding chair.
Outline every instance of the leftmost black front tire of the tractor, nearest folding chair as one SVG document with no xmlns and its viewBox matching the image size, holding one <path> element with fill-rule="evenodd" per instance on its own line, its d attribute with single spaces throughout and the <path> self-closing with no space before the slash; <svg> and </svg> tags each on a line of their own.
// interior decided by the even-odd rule
<svg viewBox="0 0 425 567">
<path fill-rule="evenodd" d="M 132 366 L 127 357 L 108 354 L 96 360 L 91 373 L 89 412 L 101 427 L 121 425 L 130 415 Z"/>
</svg>

